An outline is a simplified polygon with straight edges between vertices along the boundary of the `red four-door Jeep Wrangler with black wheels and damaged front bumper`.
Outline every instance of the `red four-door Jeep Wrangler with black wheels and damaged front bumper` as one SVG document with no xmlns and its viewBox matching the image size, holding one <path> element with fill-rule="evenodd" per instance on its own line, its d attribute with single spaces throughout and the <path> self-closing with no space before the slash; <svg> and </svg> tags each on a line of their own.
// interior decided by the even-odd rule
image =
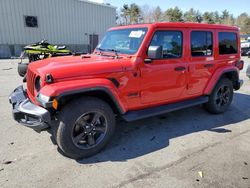
<svg viewBox="0 0 250 188">
<path fill-rule="evenodd" d="M 154 23 L 111 28 L 90 55 L 29 65 L 27 89 L 9 100 L 16 121 L 41 131 L 57 126 L 71 158 L 99 152 L 126 121 L 204 104 L 225 112 L 242 85 L 236 27 Z"/>
</svg>

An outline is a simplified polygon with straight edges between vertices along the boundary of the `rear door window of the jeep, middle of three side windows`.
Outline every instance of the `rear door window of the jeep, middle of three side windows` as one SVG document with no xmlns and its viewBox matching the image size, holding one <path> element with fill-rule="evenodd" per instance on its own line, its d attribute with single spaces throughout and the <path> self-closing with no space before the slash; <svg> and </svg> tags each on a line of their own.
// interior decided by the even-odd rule
<svg viewBox="0 0 250 188">
<path fill-rule="evenodd" d="M 209 31 L 191 32 L 192 56 L 211 56 L 213 54 L 213 34 Z"/>
</svg>

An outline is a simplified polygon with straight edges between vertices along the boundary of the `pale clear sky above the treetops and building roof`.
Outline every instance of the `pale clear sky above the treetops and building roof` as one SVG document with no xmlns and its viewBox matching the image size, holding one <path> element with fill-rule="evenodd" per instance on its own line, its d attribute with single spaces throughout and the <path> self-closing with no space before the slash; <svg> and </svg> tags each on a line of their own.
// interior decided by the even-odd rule
<svg viewBox="0 0 250 188">
<path fill-rule="evenodd" d="M 123 4 L 134 3 L 134 0 L 91 0 L 98 3 L 110 3 L 115 7 L 122 7 Z M 201 12 L 205 11 L 222 11 L 227 9 L 234 16 L 246 12 L 250 14 L 250 0 L 137 0 L 136 4 L 143 6 L 149 5 L 151 7 L 160 6 L 162 10 L 178 6 L 181 10 L 187 11 L 194 8 Z"/>
</svg>

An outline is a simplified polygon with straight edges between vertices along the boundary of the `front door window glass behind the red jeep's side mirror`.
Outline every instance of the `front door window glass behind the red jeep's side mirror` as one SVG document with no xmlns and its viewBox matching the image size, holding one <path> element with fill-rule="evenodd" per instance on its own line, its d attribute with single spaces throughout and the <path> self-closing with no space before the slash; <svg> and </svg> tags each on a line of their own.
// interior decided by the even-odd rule
<svg viewBox="0 0 250 188">
<path fill-rule="evenodd" d="M 162 46 L 163 59 L 182 56 L 181 31 L 156 31 L 150 46 Z"/>
</svg>

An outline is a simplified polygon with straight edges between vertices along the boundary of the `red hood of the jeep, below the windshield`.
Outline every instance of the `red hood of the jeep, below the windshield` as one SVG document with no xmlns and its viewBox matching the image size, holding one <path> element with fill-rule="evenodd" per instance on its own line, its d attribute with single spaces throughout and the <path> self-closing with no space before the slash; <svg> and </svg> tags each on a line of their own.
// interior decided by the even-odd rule
<svg viewBox="0 0 250 188">
<path fill-rule="evenodd" d="M 29 69 L 41 77 L 51 74 L 53 79 L 91 76 L 104 73 L 121 72 L 122 59 L 100 55 L 63 56 L 33 62 Z"/>
</svg>

